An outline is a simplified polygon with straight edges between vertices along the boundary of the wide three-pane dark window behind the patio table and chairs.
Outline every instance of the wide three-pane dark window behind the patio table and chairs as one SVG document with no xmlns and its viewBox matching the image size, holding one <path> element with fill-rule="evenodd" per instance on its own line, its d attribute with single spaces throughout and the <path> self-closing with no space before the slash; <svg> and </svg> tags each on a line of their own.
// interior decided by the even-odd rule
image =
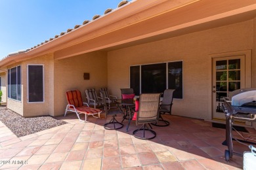
<svg viewBox="0 0 256 170">
<path fill-rule="evenodd" d="M 131 66 L 130 88 L 133 88 L 135 95 L 175 89 L 173 97 L 183 99 L 182 71 L 182 61 Z"/>
</svg>

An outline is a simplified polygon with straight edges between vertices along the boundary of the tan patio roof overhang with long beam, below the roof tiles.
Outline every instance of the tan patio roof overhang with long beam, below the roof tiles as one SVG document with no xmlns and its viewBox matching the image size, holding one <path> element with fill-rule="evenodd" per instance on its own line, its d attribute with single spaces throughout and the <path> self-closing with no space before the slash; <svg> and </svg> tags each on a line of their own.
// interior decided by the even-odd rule
<svg viewBox="0 0 256 170">
<path fill-rule="evenodd" d="M 28 52 L 9 56 L 0 67 L 54 53 L 63 59 L 176 37 L 256 17 L 254 0 L 132 1 L 87 25 Z"/>
</svg>

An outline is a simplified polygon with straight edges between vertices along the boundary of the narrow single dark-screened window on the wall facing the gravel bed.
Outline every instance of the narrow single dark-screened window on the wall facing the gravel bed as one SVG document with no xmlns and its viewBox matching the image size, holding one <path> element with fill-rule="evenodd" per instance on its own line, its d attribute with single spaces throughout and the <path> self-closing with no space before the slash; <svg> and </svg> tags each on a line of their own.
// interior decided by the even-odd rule
<svg viewBox="0 0 256 170">
<path fill-rule="evenodd" d="M 28 102 L 44 101 L 43 65 L 28 65 Z"/>
</svg>

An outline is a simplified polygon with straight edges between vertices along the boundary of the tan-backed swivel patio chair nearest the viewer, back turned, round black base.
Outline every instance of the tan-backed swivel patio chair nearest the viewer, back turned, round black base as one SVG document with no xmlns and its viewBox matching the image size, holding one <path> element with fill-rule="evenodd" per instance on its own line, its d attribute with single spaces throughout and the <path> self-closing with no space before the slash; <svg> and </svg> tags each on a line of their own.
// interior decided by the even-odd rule
<svg viewBox="0 0 256 170">
<path fill-rule="evenodd" d="M 142 124 L 142 126 L 140 129 L 133 131 L 134 137 L 138 139 L 153 139 L 156 137 L 156 132 L 149 129 L 147 124 L 150 126 L 152 123 L 158 123 L 160 95 L 161 93 L 140 94 L 140 105 L 139 112 L 137 112 L 136 115 L 136 125 Z"/>
</svg>

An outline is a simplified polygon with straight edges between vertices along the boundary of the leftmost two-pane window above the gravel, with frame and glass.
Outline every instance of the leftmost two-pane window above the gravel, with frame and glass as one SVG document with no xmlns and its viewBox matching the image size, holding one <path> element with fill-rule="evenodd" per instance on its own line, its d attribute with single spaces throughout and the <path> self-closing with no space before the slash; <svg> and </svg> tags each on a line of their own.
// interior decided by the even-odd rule
<svg viewBox="0 0 256 170">
<path fill-rule="evenodd" d="M 9 99 L 21 101 L 21 71 L 20 65 L 8 69 L 8 94 Z"/>
</svg>

